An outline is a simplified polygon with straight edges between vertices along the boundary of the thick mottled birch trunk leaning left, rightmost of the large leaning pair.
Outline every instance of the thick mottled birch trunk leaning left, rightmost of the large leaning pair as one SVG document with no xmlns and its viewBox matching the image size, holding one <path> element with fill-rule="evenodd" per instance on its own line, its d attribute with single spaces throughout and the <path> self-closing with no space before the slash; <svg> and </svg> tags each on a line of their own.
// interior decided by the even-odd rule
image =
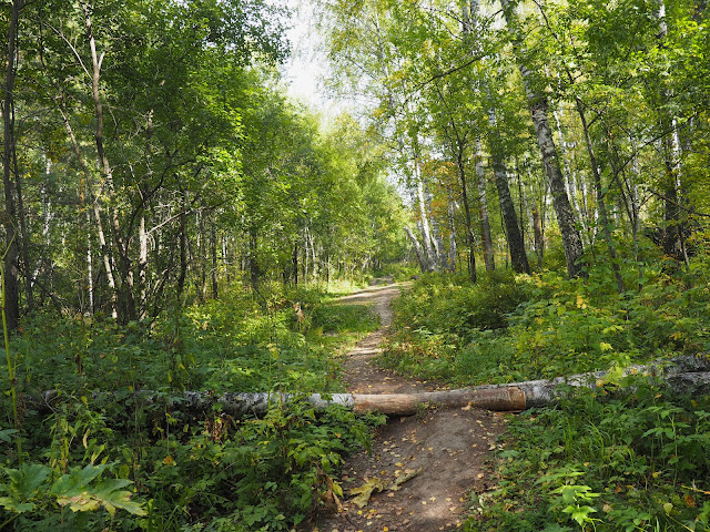
<svg viewBox="0 0 710 532">
<path fill-rule="evenodd" d="M 550 192 L 552 193 L 552 205 L 557 214 L 560 233 L 562 234 L 567 273 L 569 277 L 578 277 L 579 275 L 584 275 L 584 246 L 576 227 L 575 213 L 567 196 L 565 177 L 559 164 L 552 131 L 547 119 L 548 101 L 544 94 L 538 94 L 532 90 L 532 72 L 520 62 L 519 58 L 523 54 L 520 53 L 520 43 L 516 35 L 517 17 L 514 12 L 514 6 L 510 0 L 500 0 L 500 3 L 503 6 L 508 32 L 514 38 L 514 49 L 518 55 L 518 69 L 520 70 L 523 84 L 527 93 L 530 117 L 532 119 L 535 134 L 542 156 L 542 163 L 545 164 L 545 172 L 550 185 Z"/>
</svg>

